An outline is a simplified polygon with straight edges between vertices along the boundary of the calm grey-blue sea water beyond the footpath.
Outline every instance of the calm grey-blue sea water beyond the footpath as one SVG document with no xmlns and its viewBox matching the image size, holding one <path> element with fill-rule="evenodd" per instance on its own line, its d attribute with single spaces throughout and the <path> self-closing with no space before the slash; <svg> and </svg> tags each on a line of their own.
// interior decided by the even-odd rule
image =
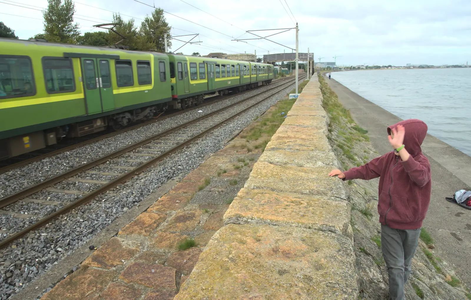
<svg viewBox="0 0 471 300">
<path fill-rule="evenodd" d="M 333 72 L 332 78 L 471 156 L 471 68 Z M 328 79 L 327 79 L 328 80 Z"/>
</svg>

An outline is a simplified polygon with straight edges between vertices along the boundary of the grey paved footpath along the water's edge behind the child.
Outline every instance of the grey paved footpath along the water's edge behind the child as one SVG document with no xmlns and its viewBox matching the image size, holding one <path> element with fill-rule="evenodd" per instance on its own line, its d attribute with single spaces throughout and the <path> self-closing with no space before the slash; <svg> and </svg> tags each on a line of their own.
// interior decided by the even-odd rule
<svg viewBox="0 0 471 300">
<path fill-rule="evenodd" d="M 350 91 L 334 79 L 326 79 L 340 102 L 359 126 L 368 130 L 380 155 L 391 150 L 386 127 L 401 119 Z M 471 158 L 439 139 L 427 135 L 422 145 L 432 168 L 432 197 L 424 227 L 435 239 L 434 253 L 453 265 L 463 283 L 471 287 L 471 211 L 445 200 L 456 190 L 470 189 Z"/>
</svg>

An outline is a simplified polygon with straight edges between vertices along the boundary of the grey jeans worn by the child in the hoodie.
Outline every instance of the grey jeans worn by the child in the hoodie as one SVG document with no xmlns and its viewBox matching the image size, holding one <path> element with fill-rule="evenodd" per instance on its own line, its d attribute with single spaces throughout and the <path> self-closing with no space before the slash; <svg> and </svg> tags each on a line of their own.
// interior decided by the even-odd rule
<svg viewBox="0 0 471 300">
<path fill-rule="evenodd" d="M 411 262 L 421 229 L 392 229 L 381 225 L 381 250 L 389 275 L 389 300 L 404 300 L 404 284 L 411 274 Z"/>
</svg>

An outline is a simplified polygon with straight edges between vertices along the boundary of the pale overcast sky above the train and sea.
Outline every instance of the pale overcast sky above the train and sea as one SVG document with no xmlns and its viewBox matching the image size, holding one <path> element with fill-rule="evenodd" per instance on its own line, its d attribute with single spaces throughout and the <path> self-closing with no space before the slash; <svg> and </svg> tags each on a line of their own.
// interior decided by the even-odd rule
<svg viewBox="0 0 471 300">
<path fill-rule="evenodd" d="M 254 38 L 244 34 L 245 30 L 294 27 L 295 19 L 300 29 L 300 52 L 307 52 L 309 47 L 317 62 L 319 57 L 324 57 L 321 61 L 333 61 L 333 56 L 338 55 L 337 64 L 345 65 L 471 63 L 471 0 L 184 1 L 196 8 L 182 0 L 141 0 L 176 15 L 165 14 L 173 27 L 173 35 L 200 34 L 201 46 L 187 44 L 179 50 L 184 54 L 291 52 L 295 47 L 294 30 L 268 38 L 287 47 L 259 40 L 236 42 L 231 41 L 231 37 Z M 140 24 L 153 10 L 134 0 L 79 0 L 75 3 L 76 22 L 81 25 L 81 32 L 97 30 L 92 28 L 94 24 L 110 22 L 113 14 L 110 11 L 127 15 L 123 15 L 124 19 L 132 16 L 136 24 Z M 42 32 L 41 9 L 46 6 L 47 0 L 0 0 L 0 21 L 15 30 L 20 39 L 28 39 Z M 288 6 L 294 17 L 290 18 Z M 170 50 L 183 44 L 175 40 L 172 43 Z"/>
</svg>

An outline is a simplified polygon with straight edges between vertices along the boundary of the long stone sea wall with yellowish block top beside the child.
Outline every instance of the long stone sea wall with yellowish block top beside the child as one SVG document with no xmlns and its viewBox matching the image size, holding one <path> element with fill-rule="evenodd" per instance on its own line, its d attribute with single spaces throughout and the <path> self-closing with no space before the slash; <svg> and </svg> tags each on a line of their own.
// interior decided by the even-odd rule
<svg viewBox="0 0 471 300">
<path fill-rule="evenodd" d="M 253 166 L 175 300 L 357 299 L 345 183 L 317 77 Z"/>
</svg>

